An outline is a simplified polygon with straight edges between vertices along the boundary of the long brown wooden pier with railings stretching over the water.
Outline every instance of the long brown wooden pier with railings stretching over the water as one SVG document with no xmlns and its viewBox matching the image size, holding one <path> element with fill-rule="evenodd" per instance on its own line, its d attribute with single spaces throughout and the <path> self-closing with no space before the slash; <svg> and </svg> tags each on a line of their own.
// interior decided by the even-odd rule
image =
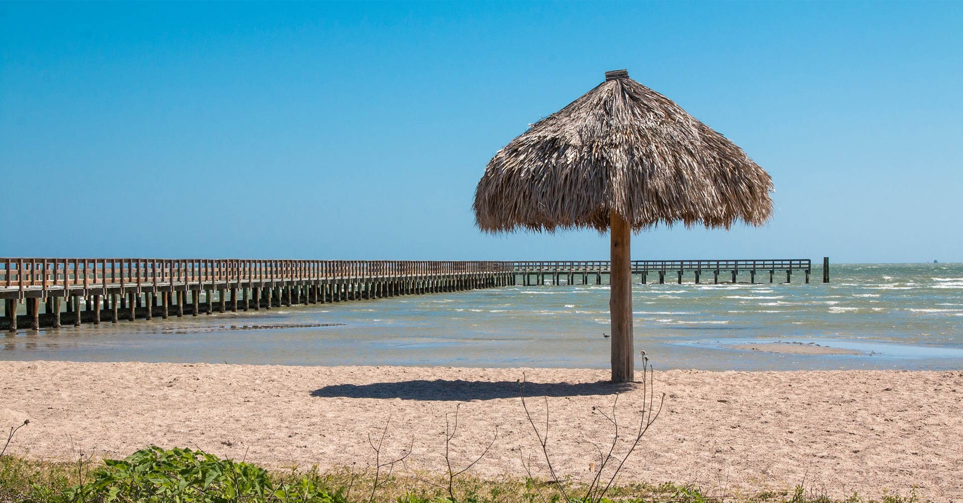
<svg viewBox="0 0 963 503">
<path fill-rule="evenodd" d="M 823 259 L 823 282 L 829 281 Z M 638 283 L 762 281 L 794 273 L 809 283 L 808 259 L 635 261 Z M 288 261 L 239 259 L 0 258 L 0 329 L 270 310 L 488 289 L 512 285 L 608 284 L 609 261 Z M 42 308 L 41 308 L 42 306 Z M 42 313 L 41 313 L 42 311 Z"/>
</svg>

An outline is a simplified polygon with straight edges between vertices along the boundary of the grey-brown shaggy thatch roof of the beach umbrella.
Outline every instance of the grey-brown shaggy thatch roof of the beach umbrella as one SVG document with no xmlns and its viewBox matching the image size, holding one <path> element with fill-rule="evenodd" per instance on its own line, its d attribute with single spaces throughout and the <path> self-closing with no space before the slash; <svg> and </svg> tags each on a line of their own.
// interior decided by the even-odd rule
<svg viewBox="0 0 963 503">
<path fill-rule="evenodd" d="M 475 218 L 489 232 L 728 228 L 772 213 L 768 173 L 732 141 L 625 70 L 538 122 L 488 162 Z"/>
</svg>

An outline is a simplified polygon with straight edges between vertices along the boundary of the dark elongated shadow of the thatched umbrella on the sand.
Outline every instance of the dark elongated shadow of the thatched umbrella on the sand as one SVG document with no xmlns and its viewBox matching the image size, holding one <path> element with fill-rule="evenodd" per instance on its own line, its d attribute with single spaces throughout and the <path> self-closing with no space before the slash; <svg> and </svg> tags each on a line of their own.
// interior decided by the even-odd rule
<svg viewBox="0 0 963 503">
<path fill-rule="evenodd" d="M 583 396 L 607 395 L 633 390 L 632 383 L 525 383 L 525 396 Z M 399 381 L 367 385 L 331 385 L 311 391 L 311 396 L 322 398 L 401 398 L 403 400 L 469 401 L 517 398 L 521 395 L 514 381 Z"/>
</svg>

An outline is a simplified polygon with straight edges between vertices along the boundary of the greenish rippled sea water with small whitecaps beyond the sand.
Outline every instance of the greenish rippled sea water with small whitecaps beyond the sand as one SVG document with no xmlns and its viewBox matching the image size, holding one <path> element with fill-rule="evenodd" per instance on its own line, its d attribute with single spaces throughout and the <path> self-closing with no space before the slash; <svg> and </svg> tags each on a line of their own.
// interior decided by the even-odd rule
<svg viewBox="0 0 963 503">
<path fill-rule="evenodd" d="M 809 285 L 801 275 L 750 285 L 747 273 L 735 285 L 691 277 L 634 285 L 636 350 L 658 368 L 963 368 L 963 264 L 841 264 L 831 272 L 829 284 L 817 283 L 814 270 Z M 608 286 L 545 285 L 107 322 L 6 335 L 0 360 L 605 368 L 608 302 Z M 730 347 L 774 341 L 861 353 Z"/>
</svg>

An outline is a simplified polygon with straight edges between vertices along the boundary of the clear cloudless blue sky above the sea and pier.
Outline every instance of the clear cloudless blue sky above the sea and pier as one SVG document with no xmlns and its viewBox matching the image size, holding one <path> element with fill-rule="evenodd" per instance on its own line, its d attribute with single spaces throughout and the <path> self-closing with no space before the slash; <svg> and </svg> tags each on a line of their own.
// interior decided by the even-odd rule
<svg viewBox="0 0 963 503">
<path fill-rule="evenodd" d="M 772 175 L 634 258 L 963 262 L 963 3 L 0 3 L 0 256 L 601 259 L 484 165 L 628 68 Z"/>
</svg>

